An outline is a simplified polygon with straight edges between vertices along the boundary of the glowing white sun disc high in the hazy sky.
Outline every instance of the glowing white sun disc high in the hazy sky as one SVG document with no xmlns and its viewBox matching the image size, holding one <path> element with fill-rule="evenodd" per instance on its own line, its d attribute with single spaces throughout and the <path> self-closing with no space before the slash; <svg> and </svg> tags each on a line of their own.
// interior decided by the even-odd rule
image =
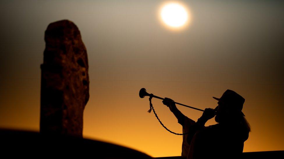
<svg viewBox="0 0 284 159">
<path fill-rule="evenodd" d="M 161 9 L 161 18 L 173 28 L 182 27 L 188 20 L 187 10 L 178 3 L 168 3 Z"/>
</svg>

